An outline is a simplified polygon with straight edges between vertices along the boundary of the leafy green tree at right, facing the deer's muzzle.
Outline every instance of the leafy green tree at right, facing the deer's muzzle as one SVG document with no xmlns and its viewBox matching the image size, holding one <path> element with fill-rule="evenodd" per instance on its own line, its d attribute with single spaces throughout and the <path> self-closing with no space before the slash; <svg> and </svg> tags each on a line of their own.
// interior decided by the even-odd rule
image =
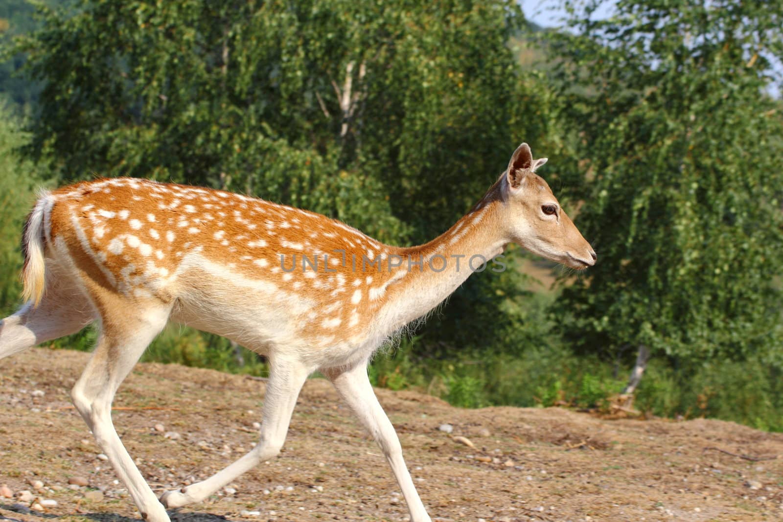
<svg viewBox="0 0 783 522">
<path fill-rule="evenodd" d="M 640 347 L 673 365 L 781 350 L 783 4 L 565 2 L 564 117 L 599 262 L 557 304 L 582 352 Z M 697 363 L 698 364 L 698 363 Z M 641 366 L 643 367 L 643 365 Z"/>
</svg>

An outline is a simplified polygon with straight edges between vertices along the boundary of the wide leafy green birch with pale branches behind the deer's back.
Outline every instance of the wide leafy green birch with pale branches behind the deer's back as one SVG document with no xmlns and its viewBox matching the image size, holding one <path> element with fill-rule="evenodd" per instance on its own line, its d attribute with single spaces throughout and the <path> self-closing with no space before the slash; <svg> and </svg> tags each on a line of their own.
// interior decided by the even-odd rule
<svg viewBox="0 0 783 522">
<path fill-rule="evenodd" d="M 510 0 L 82 0 L 41 16 L 16 47 L 45 85 L 26 152 L 61 182 L 226 187 L 421 243 L 549 124 L 550 95 L 507 45 Z M 495 320 L 514 277 L 460 290 L 428 326 L 438 346 L 500 342 L 458 316 Z"/>
</svg>

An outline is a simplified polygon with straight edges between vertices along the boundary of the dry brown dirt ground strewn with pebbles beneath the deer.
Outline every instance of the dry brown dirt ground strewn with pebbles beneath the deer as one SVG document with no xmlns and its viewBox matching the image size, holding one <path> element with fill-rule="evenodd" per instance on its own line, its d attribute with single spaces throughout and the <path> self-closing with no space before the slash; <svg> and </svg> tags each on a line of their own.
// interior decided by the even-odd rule
<svg viewBox="0 0 783 522">
<path fill-rule="evenodd" d="M 34 500 L 0 497 L 0 520 L 139 519 L 70 406 L 87 358 L 37 348 L 0 362 L 0 484 L 57 502 L 40 513 L 29 509 Z M 783 434 L 705 419 L 456 409 L 410 391 L 377 393 L 434 520 L 783 520 Z M 117 394 L 114 423 L 160 493 L 247 452 L 263 398 L 264 383 L 246 376 L 140 364 Z M 442 423 L 453 433 L 438 430 Z M 89 484 L 71 489 L 71 477 Z M 236 491 L 171 511 L 172 520 L 407 517 L 381 452 L 325 380 L 305 384 L 280 457 L 229 486 Z"/>
</svg>

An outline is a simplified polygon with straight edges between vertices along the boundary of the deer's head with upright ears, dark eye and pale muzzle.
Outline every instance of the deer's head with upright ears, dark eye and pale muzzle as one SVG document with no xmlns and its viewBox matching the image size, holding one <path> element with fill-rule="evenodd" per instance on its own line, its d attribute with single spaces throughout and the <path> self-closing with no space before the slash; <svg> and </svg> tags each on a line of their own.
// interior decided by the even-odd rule
<svg viewBox="0 0 783 522">
<path fill-rule="evenodd" d="M 547 158 L 533 159 L 527 143 L 514 151 L 500 179 L 505 232 L 514 243 L 551 261 L 576 269 L 593 266 L 597 256 L 590 243 L 562 210 L 547 182 L 536 175 L 545 163 Z"/>
</svg>

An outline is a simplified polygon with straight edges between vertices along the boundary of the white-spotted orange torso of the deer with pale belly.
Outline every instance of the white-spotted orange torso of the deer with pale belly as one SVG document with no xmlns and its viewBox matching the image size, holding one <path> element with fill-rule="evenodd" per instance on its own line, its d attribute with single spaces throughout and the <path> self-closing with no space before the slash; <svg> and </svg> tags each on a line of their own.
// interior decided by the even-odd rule
<svg viewBox="0 0 783 522">
<path fill-rule="evenodd" d="M 363 344 L 392 253 L 321 214 L 185 185 L 113 178 L 54 191 L 48 240 L 128 300 L 243 344 Z M 373 290 L 376 289 L 376 290 Z M 372 298 L 371 298 L 372 297 Z"/>
</svg>

